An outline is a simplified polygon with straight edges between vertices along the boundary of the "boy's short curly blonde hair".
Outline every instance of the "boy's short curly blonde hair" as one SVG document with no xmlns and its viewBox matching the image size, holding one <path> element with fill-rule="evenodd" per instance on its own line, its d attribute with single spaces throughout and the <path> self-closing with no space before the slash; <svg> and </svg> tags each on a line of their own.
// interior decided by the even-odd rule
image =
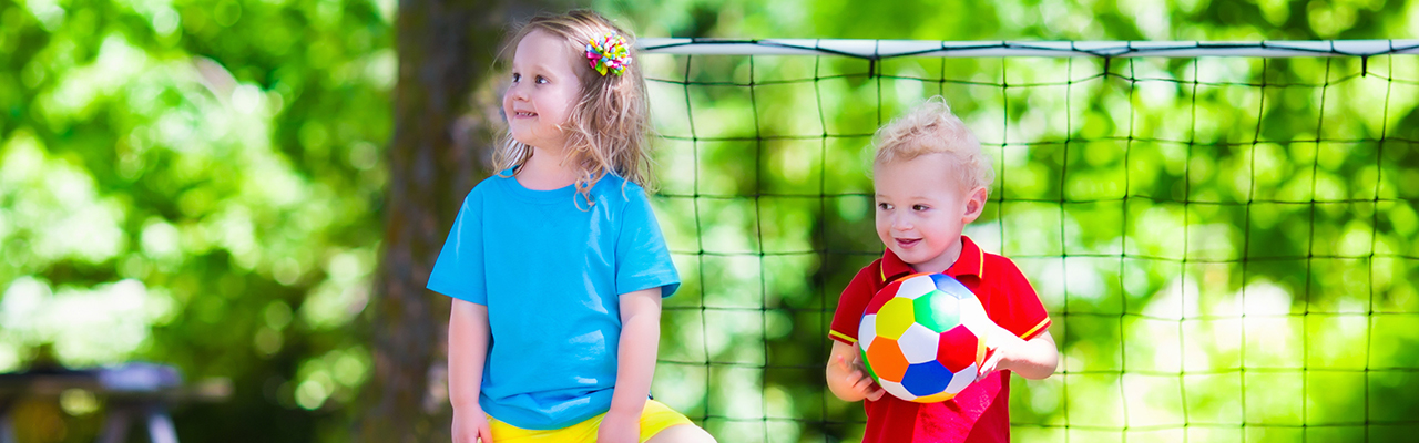
<svg viewBox="0 0 1419 443">
<path fill-rule="evenodd" d="M 989 193 L 990 183 L 995 182 L 990 156 L 981 151 L 981 141 L 959 116 L 951 114 L 951 105 L 941 95 L 928 98 L 877 129 L 873 146 L 877 149 L 874 168 L 928 153 L 945 153 L 954 159 L 954 168 L 942 173 L 958 177 L 966 192 L 985 187 Z"/>
</svg>

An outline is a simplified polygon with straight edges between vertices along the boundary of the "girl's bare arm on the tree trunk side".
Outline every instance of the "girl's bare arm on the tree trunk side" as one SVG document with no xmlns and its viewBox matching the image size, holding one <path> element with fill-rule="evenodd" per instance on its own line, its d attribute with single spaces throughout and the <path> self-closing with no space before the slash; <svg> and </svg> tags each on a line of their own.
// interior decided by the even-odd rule
<svg viewBox="0 0 1419 443">
<path fill-rule="evenodd" d="M 478 406 L 482 365 L 488 358 L 488 307 L 453 300 L 448 314 L 448 400 L 454 442 L 492 442 L 488 417 Z"/>
</svg>

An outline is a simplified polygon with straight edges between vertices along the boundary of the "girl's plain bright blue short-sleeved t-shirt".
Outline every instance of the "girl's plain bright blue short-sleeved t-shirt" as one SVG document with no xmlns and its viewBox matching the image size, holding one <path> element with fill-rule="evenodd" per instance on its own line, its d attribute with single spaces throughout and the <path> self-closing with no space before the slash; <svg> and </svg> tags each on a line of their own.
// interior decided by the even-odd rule
<svg viewBox="0 0 1419 443">
<path fill-rule="evenodd" d="M 680 277 L 636 183 L 607 173 L 587 209 L 573 186 L 531 190 L 511 172 L 464 199 L 429 288 L 488 307 L 482 410 L 561 429 L 610 409 L 620 294 L 670 297 Z"/>
</svg>

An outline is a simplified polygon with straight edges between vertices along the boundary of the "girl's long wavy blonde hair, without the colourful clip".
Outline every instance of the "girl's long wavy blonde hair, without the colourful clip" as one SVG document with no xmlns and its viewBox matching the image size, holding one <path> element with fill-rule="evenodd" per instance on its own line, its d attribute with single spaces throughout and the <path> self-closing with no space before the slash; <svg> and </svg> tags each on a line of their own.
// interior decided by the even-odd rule
<svg viewBox="0 0 1419 443">
<path fill-rule="evenodd" d="M 502 54 L 511 57 L 514 48 L 532 31 L 545 31 L 566 41 L 572 48 L 578 68 L 582 95 L 572 105 L 563 131 L 566 131 L 566 162 L 578 170 L 576 190 L 589 197 L 606 172 L 613 172 L 627 182 L 640 185 L 647 192 L 650 183 L 650 104 L 646 99 L 646 78 L 640 60 L 636 58 L 636 35 L 612 24 L 610 20 L 589 10 L 573 10 L 559 16 L 538 16 L 518 28 L 508 40 Z M 622 75 L 600 75 L 587 65 L 586 43 L 614 31 L 626 38 L 631 51 L 631 64 Z M 492 152 L 497 170 L 521 166 L 532 158 L 532 146 L 524 145 L 507 132 Z M 593 203 L 595 202 L 589 202 Z"/>
</svg>

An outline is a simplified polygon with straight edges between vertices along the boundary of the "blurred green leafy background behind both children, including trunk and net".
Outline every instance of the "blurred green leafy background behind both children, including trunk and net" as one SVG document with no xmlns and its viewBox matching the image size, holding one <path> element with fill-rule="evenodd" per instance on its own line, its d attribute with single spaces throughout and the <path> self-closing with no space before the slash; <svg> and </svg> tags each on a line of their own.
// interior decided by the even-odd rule
<svg viewBox="0 0 1419 443">
<path fill-rule="evenodd" d="M 1419 34 L 1419 1 L 1379 0 L 0 0 L 0 371 L 230 379 L 175 412 L 186 442 L 447 440 L 423 278 L 487 173 L 501 35 L 573 6 L 643 37 Z M 860 436 L 822 365 L 881 250 L 863 148 L 934 94 L 996 159 L 968 234 L 1064 354 L 1016 381 L 1017 439 L 1419 432 L 1419 57 L 640 62 L 685 278 L 654 393 L 721 442 Z M 92 440 L 104 399 L 67 399 L 18 405 L 20 440 Z"/>
</svg>

